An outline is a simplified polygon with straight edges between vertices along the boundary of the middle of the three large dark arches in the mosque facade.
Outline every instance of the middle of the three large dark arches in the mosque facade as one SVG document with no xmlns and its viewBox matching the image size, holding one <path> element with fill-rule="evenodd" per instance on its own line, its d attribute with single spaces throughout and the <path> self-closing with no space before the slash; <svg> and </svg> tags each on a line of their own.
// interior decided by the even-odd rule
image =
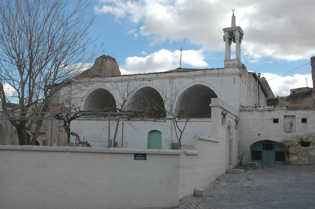
<svg viewBox="0 0 315 209">
<path fill-rule="evenodd" d="M 142 117 L 166 117 L 162 96 L 157 90 L 148 86 L 135 92 L 129 102 L 129 110 L 139 111 Z"/>
</svg>

